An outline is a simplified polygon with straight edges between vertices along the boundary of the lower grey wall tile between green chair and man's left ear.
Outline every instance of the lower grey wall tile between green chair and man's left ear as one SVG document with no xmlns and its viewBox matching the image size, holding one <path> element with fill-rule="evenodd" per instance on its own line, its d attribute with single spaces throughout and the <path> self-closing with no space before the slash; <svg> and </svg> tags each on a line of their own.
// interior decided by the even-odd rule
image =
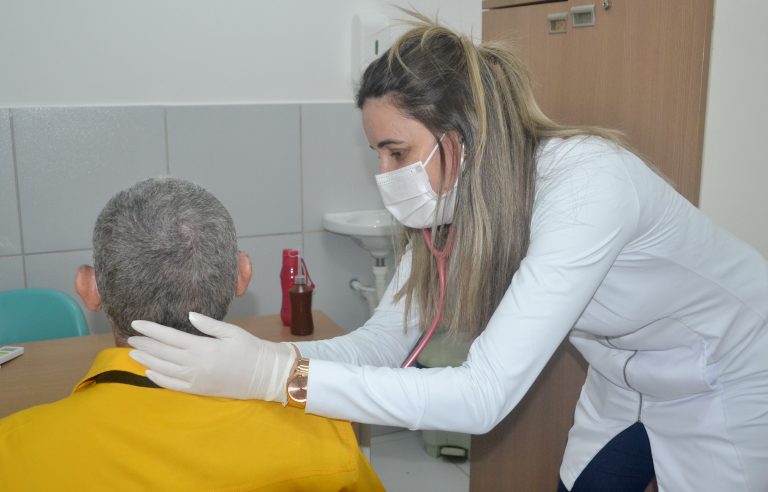
<svg viewBox="0 0 768 492">
<path fill-rule="evenodd" d="M 111 331 L 109 321 L 102 311 L 89 311 L 75 291 L 75 272 L 80 265 L 93 265 L 90 250 L 66 253 L 27 255 L 27 287 L 47 287 L 66 292 L 78 304 L 85 315 L 91 333 Z"/>
</svg>

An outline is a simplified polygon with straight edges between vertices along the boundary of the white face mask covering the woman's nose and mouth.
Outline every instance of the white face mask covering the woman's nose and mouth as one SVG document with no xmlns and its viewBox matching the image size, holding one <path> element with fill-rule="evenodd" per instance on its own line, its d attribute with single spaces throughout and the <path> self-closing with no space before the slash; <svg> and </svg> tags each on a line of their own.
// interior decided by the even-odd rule
<svg viewBox="0 0 768 492">
<path fill-rule="evenodd" d="M 450 224 L 453 221 L 453 209 L 456 205 L 456 187 L 443 193 L 440 210 L 437 207 L 437 194 L 429 183 L 427 165 L 437 152 L 438 145 L 424 162 L 415 162 L 395 171 L 376 175 L 376 185 L 384 201 L 384 206 L 400 223 L 408 227 L 424 229 L 435 224 Z M 463 155 L 462 146 L 462 155 Z M 463 162 L 462 162 L 463 164 Z M 461 169 L 462 166 L 459 166 Z"/>
</svg>

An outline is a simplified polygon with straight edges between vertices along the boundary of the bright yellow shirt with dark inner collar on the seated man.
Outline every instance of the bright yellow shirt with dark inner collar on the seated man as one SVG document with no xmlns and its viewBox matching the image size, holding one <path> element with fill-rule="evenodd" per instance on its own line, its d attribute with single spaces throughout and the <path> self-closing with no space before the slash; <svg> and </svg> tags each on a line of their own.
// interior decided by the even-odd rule
<svg viewBox="0 0 768 492">
<path fill-rule="evenodd" d="M 91 380 L 143 375 L 128 350 L 100 352 L 69 397 L 0 420 L 0 490 L 384 490 L 348 422 Z"/>
</svg>

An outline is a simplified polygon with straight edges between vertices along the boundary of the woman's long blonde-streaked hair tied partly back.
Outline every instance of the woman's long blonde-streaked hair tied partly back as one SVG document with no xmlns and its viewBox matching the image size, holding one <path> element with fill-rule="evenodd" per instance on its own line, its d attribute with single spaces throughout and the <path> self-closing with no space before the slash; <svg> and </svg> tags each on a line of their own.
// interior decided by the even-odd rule
<svg viewBox="0 0 768 492">
<path fill-rule="evenodd" d="M 616 132 L 559 125 L 536 104 L 525 65 L 508 47 L 475 43 L 412 11 L 411 29 L 366 69 L 356 101 L 388 97 L 407 117 L 440 140 L 456 132 L 464 145 L 458 178 L 452 253 L 442 327 L 450 333 L 481 332 L 526 255 L 536 184 L 536 151 L 547 138 L 598 135 L 619 142 Z M 448 139 L 446 139 L 448 140 Z M 446 171 L 440 147 L 440 189 Z M 450 145 L 450 143 L 448 144 Z M 460 151 L 453 149 L 452 155 Z M 433 227 L 435 246 L 445 246 L 447 227 Z M 420 229 L 405 228 L 400 254 L 412 250 L 410 277 L 396 293 L 406 318 L 418 306 L 423 330 L 437 310 L 435 259 Z"/>
</svg>

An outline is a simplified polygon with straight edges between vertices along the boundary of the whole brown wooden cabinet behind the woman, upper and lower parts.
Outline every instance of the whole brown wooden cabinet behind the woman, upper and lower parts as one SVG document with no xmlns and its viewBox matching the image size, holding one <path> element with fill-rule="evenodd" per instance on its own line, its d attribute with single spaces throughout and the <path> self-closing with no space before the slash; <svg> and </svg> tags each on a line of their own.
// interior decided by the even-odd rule
<svg viewBox="0 0 768 492">
<path fill-rule="evenodd" d="M 594 25 L 574 27 L 571 9 L 590 5 Z M 483 7 L 483 39 L 517 49 L 546 114 L 622 131 L 698 202 L 713 0 L 486 0 Z M 558 13 L 566 14 L 565 33 L 550 34 L 549 16 Z M 584 377 L 584 361 L 564 343 L 520 405 L 473 437 L 470 489 L 554 491 Z"/>
</svg>

